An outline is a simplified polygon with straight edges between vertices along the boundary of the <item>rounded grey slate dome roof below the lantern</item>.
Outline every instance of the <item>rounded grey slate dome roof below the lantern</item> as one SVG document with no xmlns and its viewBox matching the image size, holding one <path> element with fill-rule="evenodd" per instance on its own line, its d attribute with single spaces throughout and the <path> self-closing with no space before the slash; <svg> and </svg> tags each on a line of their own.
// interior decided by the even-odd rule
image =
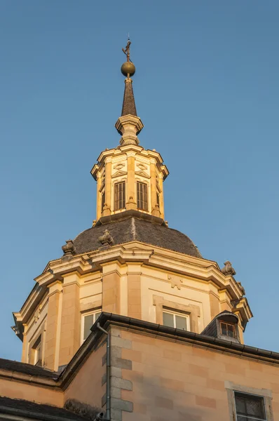
<svg viewBox="0 0 279 421">
<path fill-rule="evenodd" d="M 104 234 L 105 229 L 109 230 L 114 239 L 114 245 L 140 241 L 151 246 L 162 247 L 196 258 L 202 258 L 198 248 L 182 232 L 133 216 L 104 225 L 96 225 L 81 232 L 74 239 L 76 254 L 88 253 L 100 248 L 102 243 L 100 243 L 99 237 Z"/>
</svg>

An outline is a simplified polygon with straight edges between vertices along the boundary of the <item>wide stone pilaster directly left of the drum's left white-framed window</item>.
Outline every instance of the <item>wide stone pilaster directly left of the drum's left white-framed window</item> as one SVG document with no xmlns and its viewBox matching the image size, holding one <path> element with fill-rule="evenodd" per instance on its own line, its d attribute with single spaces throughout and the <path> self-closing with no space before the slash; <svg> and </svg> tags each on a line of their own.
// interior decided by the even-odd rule
<svg viewBox="0 0 279 421">
<path fill-rule="evenodd" d="M 81 312 L 79 308 L 79 277 L 70 274 L 64 277 L 60 353 L 58 366 L 69 363 L 81 346 Z"/>
</svg>

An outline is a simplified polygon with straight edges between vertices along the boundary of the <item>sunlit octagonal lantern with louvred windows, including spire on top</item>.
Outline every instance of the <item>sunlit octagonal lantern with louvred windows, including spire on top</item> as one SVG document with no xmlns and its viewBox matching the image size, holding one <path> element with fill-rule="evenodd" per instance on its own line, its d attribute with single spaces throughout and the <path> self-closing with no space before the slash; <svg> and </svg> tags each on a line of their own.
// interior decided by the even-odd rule
<svg viewBox="0 0 279 421">
<path fill-rule="evenodd" d="M 97 215 L 95 223 L 121 219 L 129 214 L 144 219 L 156 218 L 164 223 L 163 180 L 168 168 L 155 149 L 140 146 L 137 135 L 144 127 L 137 116 L 131 76 L 135 65 L 130 60 L 130 39 L 123 48 L 127 60 L 121 67 L 125 88 L 121 116 L 116 130 L 121 135 L 120 145 L 104 150 L 91 174 L 97 180 Z"/>
</svg>

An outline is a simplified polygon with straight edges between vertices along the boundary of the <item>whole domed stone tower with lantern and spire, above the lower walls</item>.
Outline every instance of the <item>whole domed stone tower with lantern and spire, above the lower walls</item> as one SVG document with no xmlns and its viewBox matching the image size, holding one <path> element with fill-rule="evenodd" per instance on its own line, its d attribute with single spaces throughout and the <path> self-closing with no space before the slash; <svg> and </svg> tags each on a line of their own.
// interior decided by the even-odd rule
<svg viewBox="0 0 279 421">
<path fill-rule="evenodd" d="M 131 77 L 130 41 L 121 67 L 125 90 L 114 149 L 104 149 L 91 174 L 97 181 L 93 227 L 67 240 L 46 265 L 20 312 L 22 362 L 58 370 L 69 363 L 101 312 L 243 342 L 252 313 L 231 263 L 221 270 L 164 214 L 168 168 L 159 152 L 140 146 Z M 222 321 L 220 324 L 219 319 Z"/>
</svg>

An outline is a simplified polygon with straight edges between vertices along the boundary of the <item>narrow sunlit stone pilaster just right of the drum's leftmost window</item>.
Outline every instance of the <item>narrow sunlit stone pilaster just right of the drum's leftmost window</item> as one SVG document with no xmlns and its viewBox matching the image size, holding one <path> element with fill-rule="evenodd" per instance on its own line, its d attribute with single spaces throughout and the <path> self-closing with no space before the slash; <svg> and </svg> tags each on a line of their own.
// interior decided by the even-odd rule
<svg viewBox="0 0 279 421">
<path fill-rule="evenodd" d="M 55 367 L 55 355 L 59 352 L 59 338 L 58 326 L 60 326 L 60 297 L 62 294 L 62 282 L 55 281 L 48 286 L 48 315 L 46 318 L 46 342 L 44 359 L 46 368 L 50 370 L 57 370 Z M 56 358 L 57 363 L 57 358 Z"/>
</svg>

